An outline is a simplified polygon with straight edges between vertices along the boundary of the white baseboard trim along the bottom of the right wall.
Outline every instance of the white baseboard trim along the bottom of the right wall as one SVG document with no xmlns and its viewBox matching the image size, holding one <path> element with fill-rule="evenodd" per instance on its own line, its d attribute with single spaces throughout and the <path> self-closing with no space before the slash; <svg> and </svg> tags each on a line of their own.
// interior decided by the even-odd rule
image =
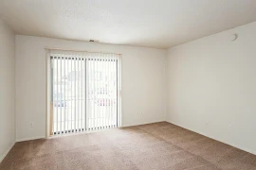
<svg viewBox="0 0 256 170">
<path fill-rule="evenodd" d="M 200 134 L 200 135 L 206 136 L 206 137 L 208 137 L 208 138 L 210 138 L 210 139 L 213 139 L 213 140 L 215 140 L 215 141 L 221 142 L 221 143 L 223 143 L 223 144 L 229 144 L 229 143 L 226 142 L 226 141 L 217 139 L 217 138 L 215 138 L 215 137 L 213 137 L 213 136 L 210 136 L 210 135 L 208 135 L 208 134 L 205 134 L 205 133 L 202 133 L 202 132 L 199 132 L 199 131 L 192 130 L 192 129 L 188 128 L 188 127 L 180 126 L 180 125 L 178 125 L 178 124 L 176 124 L 176 123 L 174 123 L 174 122 L 171 122 L 171 121 L 166 121 L 166 122 L 168 122 L 168 123 L 170 123 L 170 124 L 174 124 L 175 126 L 182 127 L 182 128 L 187 129 L 187 130 L 193 131 L 193 132 L 198 133 L 198 134 Z M 254 152 L 254 151 L 252 151 L 252 150 L 250 150 L 250 149 L 247 149 L 247 148 L 245 148 L 245 147 L 238 146 L 238 145 L 236 145 L 236 144 L 229 144 L 229 145 L 230 145 L 230 146 L 233 146 L 233 147 L 235 147 L 235 148 L 244 150 L 244 151 L 246 151 L 246 152 L 248 152 L 248 153 L 251 153 L 251 154 L 253 154 L 253 155 L 256 155 L 256 151 Z"/>
</svg>

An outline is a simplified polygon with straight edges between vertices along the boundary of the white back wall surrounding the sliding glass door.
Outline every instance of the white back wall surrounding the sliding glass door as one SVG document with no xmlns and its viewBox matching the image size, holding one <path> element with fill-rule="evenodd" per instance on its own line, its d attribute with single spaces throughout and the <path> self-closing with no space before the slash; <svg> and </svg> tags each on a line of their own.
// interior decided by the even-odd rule
<svg viewBox="0 0 256 170">
<path fill-rule="evenodd" d="M 17 141 L 46 135 L 45 47 L 122 54 L 122 126 L 163 121 L 166 50 L 16 36 Z M 140 114 L 140 111 L 143 114 Z M 34 122 L 34 127 L 29 123 Z"/>
</svg>

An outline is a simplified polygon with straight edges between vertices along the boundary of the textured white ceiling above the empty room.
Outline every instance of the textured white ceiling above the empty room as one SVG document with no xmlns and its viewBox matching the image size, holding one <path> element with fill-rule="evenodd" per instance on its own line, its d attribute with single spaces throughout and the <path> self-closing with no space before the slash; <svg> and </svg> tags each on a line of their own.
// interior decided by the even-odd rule
<svg viewBox="0 0 256 170">
<path fill-rule="evenodd" d="M 0 0 L 17 33 L 167 48 L 256 21 L 256 0 Z"/>
</svg>

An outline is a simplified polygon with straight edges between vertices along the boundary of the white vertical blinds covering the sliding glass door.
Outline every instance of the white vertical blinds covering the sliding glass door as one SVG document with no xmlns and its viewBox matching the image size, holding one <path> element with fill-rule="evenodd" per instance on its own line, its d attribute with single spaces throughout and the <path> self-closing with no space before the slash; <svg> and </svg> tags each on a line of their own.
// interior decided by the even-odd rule
<svg viewBox="0 0 256 170">
<path fill-rule="evenodd" d="M 51 53 L 51 134 L 118 127 L 119 55 Z"/>
</svg>

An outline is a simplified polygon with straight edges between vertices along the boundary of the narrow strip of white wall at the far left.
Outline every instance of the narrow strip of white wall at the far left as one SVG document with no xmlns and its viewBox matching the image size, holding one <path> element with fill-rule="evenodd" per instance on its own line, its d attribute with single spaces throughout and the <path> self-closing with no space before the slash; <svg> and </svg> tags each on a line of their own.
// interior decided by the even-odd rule
<svg viewBox="0 0 256 170">
<path fill-rule="evenodd" d="M 0 19 L 0 161 L 15 143 L 15 36 Z"/>
</svg>

